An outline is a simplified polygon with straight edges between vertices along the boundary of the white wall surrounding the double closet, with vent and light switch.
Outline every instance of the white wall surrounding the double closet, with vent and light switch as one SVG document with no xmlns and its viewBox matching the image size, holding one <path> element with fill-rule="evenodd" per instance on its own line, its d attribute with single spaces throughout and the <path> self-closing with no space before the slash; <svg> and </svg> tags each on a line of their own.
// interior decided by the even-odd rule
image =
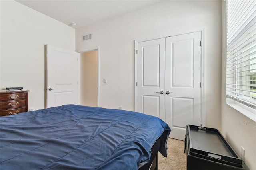
<svg viewBox="0 0 256 170">
<path fill-rule="evenodd" d="M 76 29 L 76 50 L 100 46 L 100 107 L 134 110 L 134 40 L 204 29 L 205 125 L 220 129 L 221 21 L 221 1 L 161 1 Z M 92 40 L 82 42 L 88 33 Z"/>
</svg>

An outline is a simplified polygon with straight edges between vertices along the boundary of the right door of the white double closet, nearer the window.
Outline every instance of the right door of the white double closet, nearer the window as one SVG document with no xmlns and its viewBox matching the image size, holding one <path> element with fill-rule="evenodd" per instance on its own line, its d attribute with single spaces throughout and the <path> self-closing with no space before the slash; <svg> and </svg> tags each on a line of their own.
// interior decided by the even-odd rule
<svg viewBox="0 0 256 170">
<path fill-rule="evenodd" d="M 184 140 L 186 125 L 201 124 L 201 32 L 166 38 L 166 123 Z"/>
</svg>

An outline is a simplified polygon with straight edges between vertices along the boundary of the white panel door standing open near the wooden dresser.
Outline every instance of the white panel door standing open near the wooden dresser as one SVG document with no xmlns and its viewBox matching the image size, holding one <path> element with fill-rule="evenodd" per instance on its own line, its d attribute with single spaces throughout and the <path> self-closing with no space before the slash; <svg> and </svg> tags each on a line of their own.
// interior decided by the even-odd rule
<svg viewBox="0 0 256 170">
<path fill-rule="evenodd" d="M 78 104 L 78 53 L 47 45 L 47 108 Z"/>
</svg>

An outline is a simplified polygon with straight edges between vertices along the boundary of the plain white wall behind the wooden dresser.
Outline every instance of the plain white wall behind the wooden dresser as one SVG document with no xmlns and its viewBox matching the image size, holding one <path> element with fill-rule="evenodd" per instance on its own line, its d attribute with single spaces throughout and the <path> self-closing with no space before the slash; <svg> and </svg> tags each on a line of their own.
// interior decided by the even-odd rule
<svg viewBox="0 0 256 170">
<path fill-rule="evenodd" d="M 75 50 L 75 29 L 16 1 L 0 3 L 0 89 L 24 87 L 29 108 L 44 109 L 44 45 Z"/>
</svg>

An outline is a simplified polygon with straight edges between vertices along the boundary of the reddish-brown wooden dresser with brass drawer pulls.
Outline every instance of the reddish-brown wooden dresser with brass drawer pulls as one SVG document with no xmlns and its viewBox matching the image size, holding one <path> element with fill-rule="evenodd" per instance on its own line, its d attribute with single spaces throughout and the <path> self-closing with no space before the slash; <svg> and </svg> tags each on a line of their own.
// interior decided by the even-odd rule
<svg viewBox="0 0 256 170">
<path fill-rule="evenodd" d="M 0 91 L 0 116 L 15 115 L 28 111 L 28 92 L 20 91 Z"/>
</svg>

